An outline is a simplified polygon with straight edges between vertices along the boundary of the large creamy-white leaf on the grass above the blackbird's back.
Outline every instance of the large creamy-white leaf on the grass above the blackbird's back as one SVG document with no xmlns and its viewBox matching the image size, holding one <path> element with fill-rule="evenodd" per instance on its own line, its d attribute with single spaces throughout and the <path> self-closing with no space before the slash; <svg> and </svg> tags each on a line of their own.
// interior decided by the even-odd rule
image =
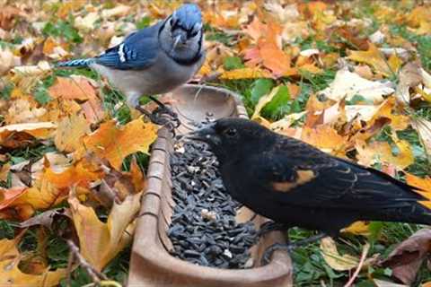
<svg viewBox="0 0 431 287">
<path fill-rule="evenodd" d="M 383 101 L 384 95 L 389 95 L 393 91 L 395 90 L 390 82 L 369 81 L 347 69 L 342 69 L 337 72 L 330 86 L 319 91 L 319 94 L 331 100 L 343 98 L 351 100 L 355 95 L 360 95 L 372 103 L 380 103 Z"/>
</svg>

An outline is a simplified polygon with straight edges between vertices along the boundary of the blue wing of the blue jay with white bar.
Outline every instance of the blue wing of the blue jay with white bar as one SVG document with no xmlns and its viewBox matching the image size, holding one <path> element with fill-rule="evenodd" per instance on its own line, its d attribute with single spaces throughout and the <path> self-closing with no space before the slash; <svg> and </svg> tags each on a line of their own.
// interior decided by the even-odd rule
<svg viewBox="0 0 431 287">
<path fill-rule="evenodd" d="M 159 22 L 129 35 L 124 42 L 96 57 L 95 63 L 119 70 L 140 70 L 153 65 L 159 53 L 161 25 Z"/>
</svg>

